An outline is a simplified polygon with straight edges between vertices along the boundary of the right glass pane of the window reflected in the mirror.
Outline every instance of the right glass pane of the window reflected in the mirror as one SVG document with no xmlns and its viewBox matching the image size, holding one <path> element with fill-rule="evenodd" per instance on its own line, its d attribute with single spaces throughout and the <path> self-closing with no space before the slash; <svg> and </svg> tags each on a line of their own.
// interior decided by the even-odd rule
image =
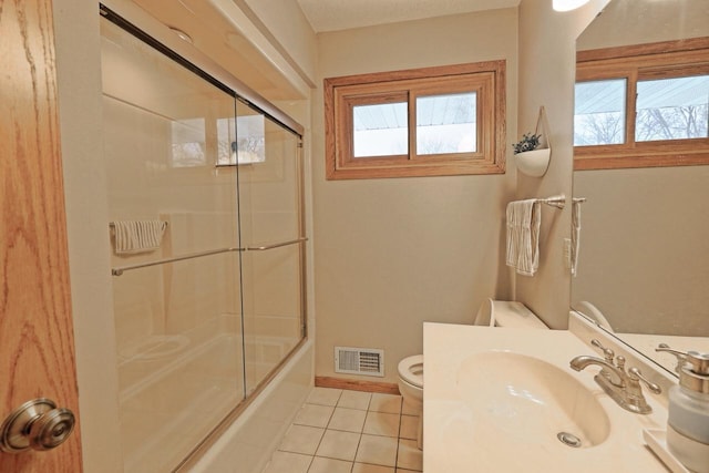
<svg viewBox="0 0 709 473">
<path fill-rule="evenodd" d="M 707 137 L 709 75 L 638 81 L 635 140 Z"/>
</svg>

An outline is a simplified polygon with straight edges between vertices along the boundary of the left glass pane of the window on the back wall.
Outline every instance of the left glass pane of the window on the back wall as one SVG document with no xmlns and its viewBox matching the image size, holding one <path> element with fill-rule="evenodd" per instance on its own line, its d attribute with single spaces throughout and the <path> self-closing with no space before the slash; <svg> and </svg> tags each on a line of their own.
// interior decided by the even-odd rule
<svg viewBox="0 0 709 473">
<path fill-rule="evenodd" d="M 405 102 L 359 105 L 352 109 L 354 157 L 409 153 L 409 119 Z"/>
</svg>

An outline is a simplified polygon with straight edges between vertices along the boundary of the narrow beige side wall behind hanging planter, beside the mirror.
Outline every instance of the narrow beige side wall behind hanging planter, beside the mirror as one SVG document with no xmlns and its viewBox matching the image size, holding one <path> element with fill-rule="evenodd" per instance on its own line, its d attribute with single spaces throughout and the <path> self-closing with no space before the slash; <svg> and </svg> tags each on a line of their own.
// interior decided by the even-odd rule
<svg viewBox="0 0 709 473">
<path fill-rule="evenodd" d="M 541 106 L 548 117 L 552 146 L 543 177 L 517 174 L 517 198 L 572 195 L 573 116 L 576 38 L 608 0 L 592 0 L 571 12 L 555 12 L 551 1 L 520 4 L 520 134 L 533 131 Z M 571 205 L 542 209 L 540 271 L 516 278 L 516 299 L 549 327 L 567 327 L 571 275 L 564 261 L 564 238 L 571 237 Z"/>
</svg>

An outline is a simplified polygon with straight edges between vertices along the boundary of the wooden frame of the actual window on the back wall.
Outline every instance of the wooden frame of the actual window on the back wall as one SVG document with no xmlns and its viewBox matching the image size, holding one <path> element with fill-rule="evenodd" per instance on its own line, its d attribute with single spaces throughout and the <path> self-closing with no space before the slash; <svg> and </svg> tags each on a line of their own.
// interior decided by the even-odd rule
<svg viewBox="0 0 709 473">
<path fill-rule="evenodd" d="M 505 83 L 505 61 L 325 79 L 327 179 L 503 174 Z M 417 97 L 461 92 L 476 94 L 477 151 L 415 154 Z M 353 157 L 353 106 L 389 102 L 408 103 L 409 153 Z"/>
</svg>

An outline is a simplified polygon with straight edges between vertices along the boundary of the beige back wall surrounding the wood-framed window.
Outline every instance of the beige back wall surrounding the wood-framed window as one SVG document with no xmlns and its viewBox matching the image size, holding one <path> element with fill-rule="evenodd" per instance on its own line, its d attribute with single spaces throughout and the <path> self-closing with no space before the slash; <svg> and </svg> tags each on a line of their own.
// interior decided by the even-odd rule
<svg viewBox="0 0 709 473">
<path fill-rule="evenodd" d="M 507 142 L 515 134 L 516 9 L 322 33 L 323 78 L 507 60 Z M 422 322 L 471 322 L 486 297 L 512 296 L 505 175 L 326 181 L 322 90 L 314 96 L 316 374 L 333 347 L 384 350 L 384 381 L 422 352 Z M 507 160 L 511 150 L 507 150 Z M 350 376 L 347 376 L 348 378 Z M 381 381 L 380 378 L 362 378 Z"/>
</svg>

